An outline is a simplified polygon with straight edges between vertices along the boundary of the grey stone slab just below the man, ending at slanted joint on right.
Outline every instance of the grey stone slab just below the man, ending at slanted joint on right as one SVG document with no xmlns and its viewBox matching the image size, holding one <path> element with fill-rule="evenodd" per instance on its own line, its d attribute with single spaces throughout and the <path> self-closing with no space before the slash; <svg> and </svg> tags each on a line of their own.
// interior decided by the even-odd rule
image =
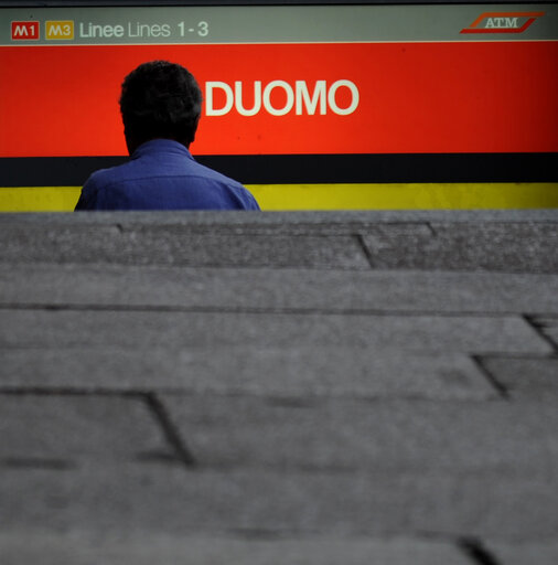
<svg viewBox="0 0 558 565">
<path fill-rule="evenodd" d="M 369 268 L 351 235 L 195 233 L 114 225 L 18 224 L 0 232 L 0 262 Z"/>
</svg>

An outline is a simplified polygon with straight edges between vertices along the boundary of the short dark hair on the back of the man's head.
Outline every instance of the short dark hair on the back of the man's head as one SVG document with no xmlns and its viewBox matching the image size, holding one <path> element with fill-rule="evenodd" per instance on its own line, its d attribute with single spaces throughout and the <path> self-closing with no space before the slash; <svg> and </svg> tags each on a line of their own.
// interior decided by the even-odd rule
<svg viewBox="0 0 558 565">
<path fill-rule="evenodd" d="M 202 111 L 202 92 L 193 75 L 168 61 L 151 61 L 122 83 L 120 111 L 128 149 L 151 139 L 194 140 Z"/>
</svg>

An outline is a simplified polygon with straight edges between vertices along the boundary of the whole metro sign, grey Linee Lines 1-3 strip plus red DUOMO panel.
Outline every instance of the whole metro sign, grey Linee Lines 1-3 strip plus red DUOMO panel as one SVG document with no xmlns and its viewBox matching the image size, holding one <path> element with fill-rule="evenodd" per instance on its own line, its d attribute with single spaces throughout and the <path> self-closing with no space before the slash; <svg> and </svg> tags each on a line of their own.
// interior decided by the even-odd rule
<svg viewBox="0 0 558 565">
<path fill-rule="evenodd" d="M 558 151 L 558 7 L 0 10 L 0 157 L 122 156 L 146 61 L 204 96 L 195 154 Z"/>
</svg>

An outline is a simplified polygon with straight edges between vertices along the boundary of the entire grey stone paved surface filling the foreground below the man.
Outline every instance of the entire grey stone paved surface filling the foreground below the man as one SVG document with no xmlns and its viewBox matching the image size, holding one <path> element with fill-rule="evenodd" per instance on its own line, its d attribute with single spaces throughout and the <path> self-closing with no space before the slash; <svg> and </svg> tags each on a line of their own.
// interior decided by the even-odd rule
<svg viewBox="0 0 558 565">
<path fill-rule="evenodd" d="M 0 563 L 558 559 L 558 213 L 0 216 Z"/>
</svg>

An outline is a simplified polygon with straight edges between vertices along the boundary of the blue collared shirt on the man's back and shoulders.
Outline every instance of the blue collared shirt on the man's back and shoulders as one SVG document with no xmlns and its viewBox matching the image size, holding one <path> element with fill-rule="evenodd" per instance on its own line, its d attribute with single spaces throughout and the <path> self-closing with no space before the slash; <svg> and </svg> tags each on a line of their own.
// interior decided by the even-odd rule
<svg viewBox="0 0 558 565">
<path fill-rule="evenodd" d="M 94 172 L 76 210 L 259 210 L 238 182 L 194 161 L 172 139 L 141 145 L 130 161 Z"/>
</svg>

